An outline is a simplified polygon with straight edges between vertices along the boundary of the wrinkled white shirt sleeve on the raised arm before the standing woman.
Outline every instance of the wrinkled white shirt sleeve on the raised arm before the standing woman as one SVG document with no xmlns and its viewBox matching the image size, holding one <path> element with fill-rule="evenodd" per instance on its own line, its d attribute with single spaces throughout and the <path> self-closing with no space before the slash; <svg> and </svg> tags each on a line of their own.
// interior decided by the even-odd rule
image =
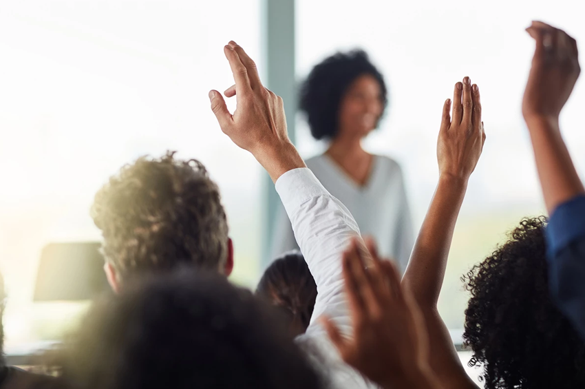
<svg viewBox="0 0 585 389">
<path fill-rule="evenodd" d="M 276 182 L 297 243 L 317 284 L 317 300 L 307 335 L 324 331 L 317 319 L 326 314 L 349 333 L 351 321 L 343 291 L 341 255 L 351 238 L 361 239 L 350 211 L 321 185 L 309 169 L 293 169 Z"/>
</svg>

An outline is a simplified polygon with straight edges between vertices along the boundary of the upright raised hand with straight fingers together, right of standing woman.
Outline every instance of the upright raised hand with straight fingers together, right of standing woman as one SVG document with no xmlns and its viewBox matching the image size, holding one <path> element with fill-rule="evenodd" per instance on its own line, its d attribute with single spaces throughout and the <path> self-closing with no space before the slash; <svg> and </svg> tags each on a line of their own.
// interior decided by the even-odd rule
<svg viewBox="0 0 585 389">
<path fill-rule="evenodd" d="M 476 168 L 485 142 L 478 85 L 471 85 L 469 77 L 456 83 L 452 105 L 452 119 L 451 100 L 443 105 L 437 142 L 439 173 L 467 179 Z"/>
</svg>

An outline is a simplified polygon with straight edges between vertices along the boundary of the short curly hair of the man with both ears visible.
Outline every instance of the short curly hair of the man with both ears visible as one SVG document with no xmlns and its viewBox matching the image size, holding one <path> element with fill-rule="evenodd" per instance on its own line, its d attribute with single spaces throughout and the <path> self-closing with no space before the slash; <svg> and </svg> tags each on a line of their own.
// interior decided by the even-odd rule
<svg viewBox="0 0 585 389">
<path fill-rule="evenodd" d="M 228 253 L 220 190 L 198 160 L 141 157 L 96 194 L 103 254 L 121 279 L 178 264 L 219 271 Z"/>
</svg>

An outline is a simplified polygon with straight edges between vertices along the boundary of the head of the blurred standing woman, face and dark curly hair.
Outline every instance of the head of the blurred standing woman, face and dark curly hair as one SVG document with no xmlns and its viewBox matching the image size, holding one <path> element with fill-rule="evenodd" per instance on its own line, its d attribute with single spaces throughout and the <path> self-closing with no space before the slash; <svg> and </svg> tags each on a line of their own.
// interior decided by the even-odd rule
<svg viewBox="0 0 585 389">
<path fill-rule="evenodd" d="M 363 138 L 378 126 L 386 105 L 384 78 L 362 50 L 323 60 L 301 87 L 300 108 L 317 140 Z"/>
</svg>

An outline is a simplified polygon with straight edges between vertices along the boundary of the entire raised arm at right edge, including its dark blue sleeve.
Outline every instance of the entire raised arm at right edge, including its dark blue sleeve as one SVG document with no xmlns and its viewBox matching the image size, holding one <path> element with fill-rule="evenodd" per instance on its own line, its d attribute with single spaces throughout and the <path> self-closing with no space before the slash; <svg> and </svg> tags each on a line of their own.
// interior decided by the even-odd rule
<svg viewBox="0 0 585 389">
<path fill-rule="evenodd" d="M 522 114 L 532 140 L 549 227 L 549 288 L 560 310 L 585 339 L 585 189 L 561 136 L 559 116 L 581 69 L 577 42 L 533 22 L 536 41 Z"/>
</svg>

